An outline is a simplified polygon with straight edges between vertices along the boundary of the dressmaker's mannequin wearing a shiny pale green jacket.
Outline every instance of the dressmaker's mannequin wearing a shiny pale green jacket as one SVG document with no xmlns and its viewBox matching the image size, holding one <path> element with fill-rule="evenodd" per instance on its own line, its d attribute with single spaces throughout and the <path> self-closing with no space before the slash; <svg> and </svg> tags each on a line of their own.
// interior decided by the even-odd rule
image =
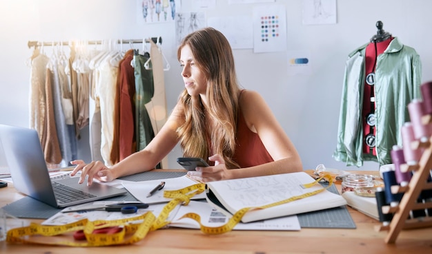
<svg viewBox="0 0 432 254">
<path fill-rule="evenodd" d="M 420 56 L 385 32 L 381 21 L 376 26 L 377 34 L 346 60 L 333 158 L 347 166 L 390 164 L 392 147 L 402 145 L 402 125 L 410 120 L 406 106 L 421 97 Z"/>
</svg>

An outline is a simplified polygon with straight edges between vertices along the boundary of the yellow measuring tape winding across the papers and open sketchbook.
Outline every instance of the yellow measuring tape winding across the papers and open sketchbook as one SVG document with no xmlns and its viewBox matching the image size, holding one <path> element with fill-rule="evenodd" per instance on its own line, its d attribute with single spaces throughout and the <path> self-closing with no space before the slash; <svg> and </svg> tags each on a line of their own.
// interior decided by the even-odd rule
<svg viewBox="0 0 432 254">
<path fill-rule="evenodd" d="M 328 179 L 328 187 L 333 184 L 333 178 L 330 175 L 324 175 L 314 182 L 303 184 L 304 188 L 312 187 L 317 182 L 322 179 Z M 179 189 L 176 191 L 164 191 L 165 198 L 171 198 L 170 202 L 165 205 L 164 209 L 159 214 L 158 218 L 148 211 L 139 216 L 133 218 L 126 218 L 121 220 L 97 220 L 89 221 L 87 219 L 79 220 L 70 224 L 59 225 L 59 226 L 44 226 L 36 223 L 31 223 L 29 226 L 23 226 L 15 229 L 10 229 L 7 233 L 6 241 L 9 243 L 17 244 L 47 244 L 47 245 L 61 245 L 61 246 L 111 246 L 111 245 L 126 245 L 139 242 L 146 237 L 147 233 L 150 231 L 155 231 L 161 229 L 164 226 L 170 224 L 168 215 L 177 205 L 188 205 L 190 198 L 198 193 L 205 191 L 206 185 L 204 183 L 194 184 L 184 189 Z M 311 191 L 309 193 L 304 193 L 302 195 L 293 196 L 286 200 L 275 202 L 272 204 L 266 204 L 262 207 L 246 207 L 240 209 L 233 215 L 228 222 L 222 226 L 209 227 L 204 226 L 201 223 L 201 218 L 196 213 L 186 213 L 181 217 L 190 218 L 195 220 L 203 233 L 206 234 L 222 234 L 233 230 L 234 226 L 242 220 L 244 214 L 253 209 L 266 209 L 268 207 L 275 207 L 279 204 L 286 204 L 294 200 L 299 200 L 302 198 L 307 198 L 311 195 L 315 195 L 324 191 L 324 189 L 319 189 L 316 191 Z M 116 233 L 94 233 L 97 229 L 103 229 L 110 226 L 119 226 L 121 230 Z M 78 240 L 65 240 L 65 236 L 72 237 L 72 234 L 76 231 L 84 231 L 86 236 L 86 241 Z M 59 237 L 56 237 L 59 235 Z M 32 236 L 32 237 L 29 237 Z M 50 236 L 50 237 L 43 237 Z"/>
</svg>

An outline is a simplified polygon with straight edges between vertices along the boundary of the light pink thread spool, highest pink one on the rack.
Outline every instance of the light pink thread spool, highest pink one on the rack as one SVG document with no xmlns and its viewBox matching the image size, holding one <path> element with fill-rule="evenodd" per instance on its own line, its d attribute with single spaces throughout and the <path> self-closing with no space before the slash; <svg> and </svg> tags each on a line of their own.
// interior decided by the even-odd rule
<svg viewBox="0 0 432 254">
<path fill-rule="evenodd" d="M 408 111 L 413 125 L 415 139 L 420 140 L 420 142 L 426 142 L 429 140 L 431 134 L 429 126 L 423 125 L 422 123 L 422 116 L 424 115 L 422 101 L 413 99 L 411 103 L 408 104 Z"/>
</svg>

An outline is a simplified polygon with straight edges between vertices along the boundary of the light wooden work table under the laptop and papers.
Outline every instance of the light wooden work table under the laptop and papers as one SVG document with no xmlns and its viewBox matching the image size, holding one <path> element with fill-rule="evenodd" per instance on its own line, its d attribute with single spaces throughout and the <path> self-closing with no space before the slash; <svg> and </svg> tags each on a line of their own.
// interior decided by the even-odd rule
<svg viewBox="0 0 432 254">
<path fill-rule="evenodd" d="M 376 174 L 376 172 L 375 172 Z M 338 184 L 340 185 L 340 184 Z M 340 188 L 340 186 L 337 186 Z M 13 184 L 0 189 L 0 207 L 19 200 Z M 65 246 L 7 244 L 1 253 L 432 253 L 432 228 L 401 231 L 395 244 L 386 244 L 386 231 L 373 218 L 348 207 L 357 229 L 302 229 L 301 231 L 230 231 L 204 235 L 195 229 L 159 229 L 133 245 L 76 248 Z M 32 220 L 41 222 L 41 220 Z"/>
</svg>

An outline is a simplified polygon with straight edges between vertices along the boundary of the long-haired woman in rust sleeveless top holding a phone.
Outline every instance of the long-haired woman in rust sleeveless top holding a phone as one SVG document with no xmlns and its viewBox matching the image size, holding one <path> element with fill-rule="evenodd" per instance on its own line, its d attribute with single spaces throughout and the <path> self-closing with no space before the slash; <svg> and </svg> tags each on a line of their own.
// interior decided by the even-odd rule
<svg viewBox="0 0 432 254">
<path fill-rule="evenodd" d="M 240 89 L 233 52 L 225 36 L 204 28 L 188 34 L 177 51 L 186 89 L 166 124 L 147 147 L 108 168 L 82 160 L 82 171 L 109 182 L 121 176 L 154 169 L 180 142 L 185 157 L 207 160 L 188 176 L 202 182 L 302 171 L 300 156 L 271 109 L 257 92 Z"/>
</svg>

